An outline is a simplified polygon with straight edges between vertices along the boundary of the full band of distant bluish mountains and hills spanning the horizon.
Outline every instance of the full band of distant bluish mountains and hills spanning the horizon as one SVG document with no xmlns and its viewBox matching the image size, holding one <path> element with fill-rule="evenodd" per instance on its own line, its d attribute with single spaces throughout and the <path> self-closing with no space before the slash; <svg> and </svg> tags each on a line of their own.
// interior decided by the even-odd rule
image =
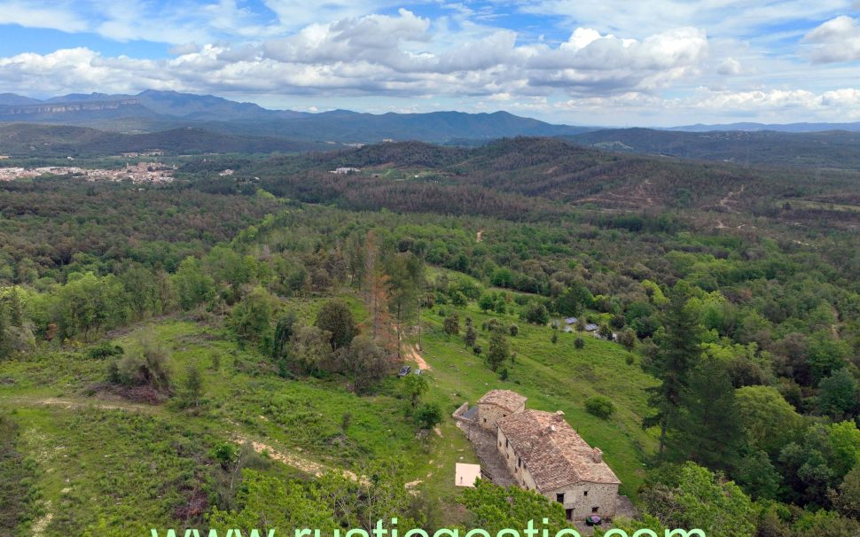
<svg viewBox="0 0 860 537">
<path fill-rule="evenodd" d="M 137 95 L 73 93 L 43 100 L 2 93 L 0 127 L 4 123 L 13 125 L 0 130 L 0 154 L 18 156 L 104 155 L 156 148 L 173 153 L 304 152 L 385 140 L 476 146 L 502 137 L 540 136 L 609 152 L 744 165 L 860 169 L 860 123 L 593 128 L 553 125 L 506 112 L 269 110 L 222 97 L 155 90 Z M 55 128 L 27 128 L 36 124 Z"/>
</svg>

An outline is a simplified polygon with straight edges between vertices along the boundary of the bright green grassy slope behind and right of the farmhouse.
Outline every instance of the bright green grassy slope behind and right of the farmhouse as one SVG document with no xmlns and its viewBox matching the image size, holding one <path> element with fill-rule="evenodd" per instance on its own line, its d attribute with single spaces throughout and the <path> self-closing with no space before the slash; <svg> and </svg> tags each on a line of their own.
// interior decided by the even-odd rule
<svg viewBox="0 0 860 537">
<path fill-rule="evenodd" d="M 449 402 L 448 409 L 453 411 L 464 401 L 474 403 L 491 389 L 505 388 L 527 396 L 528 408 L 562 410 L 583 439 L 603 450 L 606 462 L 622 479 L 622 494 L 636 494 L 644 476 L 645 455 L 653 453 L 656 446 L 653 435 L 640 426 L 647 412 L 644 390 L 655 381 L 642 372 L 636 357 L 620 345 L 577 332 L 559 331 L 553 344 L 549 327 L 521 322 L 514 315 L 486 315 L 474 305 L 443 309 L 457 312 L 461 327 L 466 316 L 472 317 L 484 352 L 489 347 L 489 334 L 480 330 L 482 323 L 495 317 L 505 327 L 516 323 L 520 328 L 518 335 L 509 339 L 516 361 L 506 364 L 509 377 L 502 381 L 481 356 L 465 348 L 462 338 L 442 331 L 441 315 L 426 312 L 422 354 L 433 368 L 434 387 L 438 397 Z M 582 349 L 574 346 L 578 337 L 585 340 Z M 628 357 L 634 359 L 630 364 Z M 596 394 L 612 398 L 618 409 L 608 421 L 584 409 L 584 401 Z"/>
</svg>

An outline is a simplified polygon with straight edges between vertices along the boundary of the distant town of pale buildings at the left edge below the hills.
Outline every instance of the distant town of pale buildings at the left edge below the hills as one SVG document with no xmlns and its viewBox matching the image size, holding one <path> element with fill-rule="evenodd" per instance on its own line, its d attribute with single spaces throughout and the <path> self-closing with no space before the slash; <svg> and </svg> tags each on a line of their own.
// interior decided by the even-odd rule
<svg viewBox="0 0 860 537">
<path fill-rule="evenodd" d="M 172 183 L 175 171 L 175 166 L 168 166 L 159 162 L 139 162 L 114 169 L 74 166 L 0 167 L 0 181 L 14 181 L 16 179 L 41 177 L 42 175 L 68 175 L 82 177 L 87 181 L 130 181 L 135 184 L 159 184 Z"/>
</svg>

